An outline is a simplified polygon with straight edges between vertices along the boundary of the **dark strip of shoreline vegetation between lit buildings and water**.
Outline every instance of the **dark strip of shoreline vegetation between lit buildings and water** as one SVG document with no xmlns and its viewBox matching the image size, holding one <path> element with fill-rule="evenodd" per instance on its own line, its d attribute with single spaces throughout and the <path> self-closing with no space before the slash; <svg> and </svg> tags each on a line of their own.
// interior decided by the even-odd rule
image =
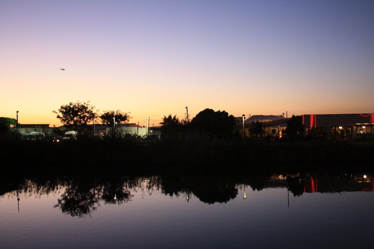
<svg viewBox="0 0 374 249">
<path fill-rule="evenodd" d="M 116 168 L 126 172 L 215 171 L 371 167 L 374 141 L 215 140 L 203 135 L 142 141 L 88 136 L 78 140 L 27 141 L 2 137 L 3 165 L 33 168 Z M 4 166 L 3 166 L 4 168 Z"/>
</svg>

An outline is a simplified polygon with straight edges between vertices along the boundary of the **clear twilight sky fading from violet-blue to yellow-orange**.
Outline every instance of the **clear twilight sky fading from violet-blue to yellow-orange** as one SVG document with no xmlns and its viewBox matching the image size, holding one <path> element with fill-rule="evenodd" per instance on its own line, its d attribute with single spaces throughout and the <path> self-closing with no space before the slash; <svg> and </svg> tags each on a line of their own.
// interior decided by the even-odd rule
<svg viewBox="0 0 374 249">
<path fill-rule="evenodd" d="M 374 112 L 374 1 L 0 0 L 0 116 Z M 60 70 L 65 68 L 65 71 Z"/>
</svg>

